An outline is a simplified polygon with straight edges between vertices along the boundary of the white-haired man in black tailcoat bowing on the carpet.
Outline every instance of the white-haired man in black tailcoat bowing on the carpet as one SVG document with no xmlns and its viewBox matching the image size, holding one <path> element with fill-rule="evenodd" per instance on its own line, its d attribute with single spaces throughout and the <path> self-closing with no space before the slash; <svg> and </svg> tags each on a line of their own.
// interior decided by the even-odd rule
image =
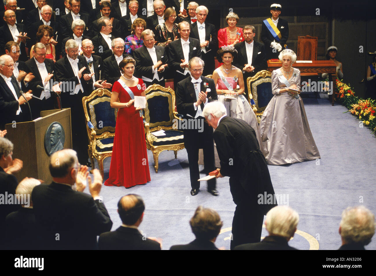
<svg viewBox="0 0 376 276">
<path fill-rule="evenodd" d="M 237 205 L 230 249 L 259 242 L 264 214 L 276 204 L 258 203 L 260 194 L 274 198 L 274 189 L 255 130 L 241 119 L 226 116 L 226 107 L 218 101 L 206 104 L 202 113 L 215 130 L 213 137 L 221 165 L 217 178 L 230 176 L 230 191 Z"/>
</svg>

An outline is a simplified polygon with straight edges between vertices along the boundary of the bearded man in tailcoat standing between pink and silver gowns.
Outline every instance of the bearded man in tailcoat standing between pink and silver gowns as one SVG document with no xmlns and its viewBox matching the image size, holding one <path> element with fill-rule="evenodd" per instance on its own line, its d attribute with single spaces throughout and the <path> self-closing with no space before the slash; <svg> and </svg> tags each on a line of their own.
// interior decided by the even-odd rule
<svg viewBox="0 0 376 276">
<path fill-rule="evenodd" d="M 247 78 L 253 77 L 261 70 L 266 70 L 267 63 L 264 44 L 253 39 L 256 35 L 255 27 L 249 25 L 245 26 L 243 28 L 243 35 L 244 41 L 235 44 L 238 57 L 234 60 L 233 65 L 243 72 L 244 93 L 248 99 Z"/>
</svg>

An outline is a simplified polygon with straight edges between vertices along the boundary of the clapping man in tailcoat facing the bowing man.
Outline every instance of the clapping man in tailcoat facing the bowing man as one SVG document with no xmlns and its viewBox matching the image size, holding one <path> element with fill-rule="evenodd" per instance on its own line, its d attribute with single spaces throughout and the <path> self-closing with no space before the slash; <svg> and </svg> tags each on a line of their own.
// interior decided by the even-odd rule
<svg viewBox="0 0 376 276">
<path fill-rule="evenodd" d="M 213 131 L 204 123 L 202 110 L 207 103 L 218 100 L 218 96 L 214 80 L 202 76 L 204 66 L 202 59 L 193 57 L 188 66 L 191 75 L 177 83 L 176 106 L 177 112 L 183 115 L 185 122 L 197 126 L 194 129 L 183 128 L 184 146 L 189 162 L 191 195 L 194 196 L 200 192 L 199 149 L 203 149 L 206 174 L 215 169 Z M 215 183 L 215 179 L 208 180 L 208 192 L 218 196 Z"/>
</svg>

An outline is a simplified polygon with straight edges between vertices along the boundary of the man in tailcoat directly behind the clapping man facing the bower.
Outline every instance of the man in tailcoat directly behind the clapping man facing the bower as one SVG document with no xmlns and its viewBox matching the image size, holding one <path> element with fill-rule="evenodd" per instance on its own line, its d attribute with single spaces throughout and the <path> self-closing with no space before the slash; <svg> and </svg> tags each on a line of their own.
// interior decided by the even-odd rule
<svg viewBox="0 0 376 276">
<path fill-rule="evenodd" d="M 192 57 L 199 57 L 200 59 L 202 57 L 200 41 L 189 37 L 190 30 L 191 25 L 188 22 L 180 22 L 178 24 L 180 38 L 168 44 L 168 65 L 174 71 L 174 87 L 179 81 L 188 77 L 188 62 Z"/>
</svg>

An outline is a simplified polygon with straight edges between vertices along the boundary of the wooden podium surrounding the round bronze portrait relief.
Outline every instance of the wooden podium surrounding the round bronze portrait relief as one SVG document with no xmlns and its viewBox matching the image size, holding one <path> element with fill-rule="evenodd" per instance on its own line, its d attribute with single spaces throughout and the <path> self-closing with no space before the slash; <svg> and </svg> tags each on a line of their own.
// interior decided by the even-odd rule
<svg viewBox="0 0 376 276">
<path fill-rule="evenodd" d="M 14 144 L 13 158 L 23 161 L 20 172 L 14 173 L 18 182 L 25 177 L 43 180 L 46 184 L 52 181 L 49 162 L 50 155 L 44 146 L 44 137 L 47 129 L 53 122 L 59 122 L 64 128 L 64 148 L 72 148 L 71 110 L 46 110 L 41 117 L 30 122 L 6 124 L 6 138 Z"/>
</svg>

